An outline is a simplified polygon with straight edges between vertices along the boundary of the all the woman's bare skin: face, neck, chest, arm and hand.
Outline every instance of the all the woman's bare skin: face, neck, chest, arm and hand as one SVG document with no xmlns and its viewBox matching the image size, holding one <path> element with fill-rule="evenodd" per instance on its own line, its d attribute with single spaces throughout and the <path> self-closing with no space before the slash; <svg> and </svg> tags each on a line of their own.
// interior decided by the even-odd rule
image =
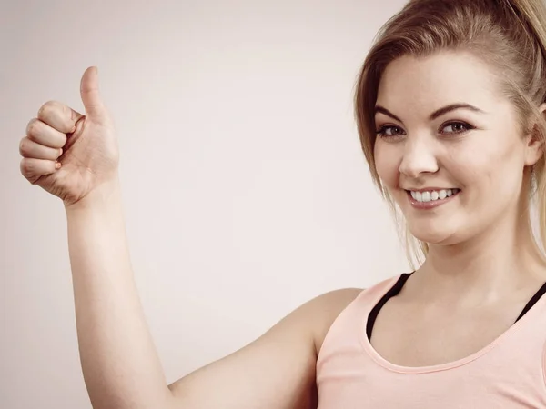
<svg viewBox="0 0 546 409">
<path fill-rule="evenodd" d="M 526 166 L 538 160 L 541 145 L 517 135 L 516 117 L 497 89 L 490 69 L 468 55 L 404 57 L 389 65 L 381 81 L 378 103 L 400 121 L 378 114 L 377 123 L 396 125 L 405 135 L 379 139 L 378 172 L 412 233 L 430 242 L 427 262 L 383 307 L 374 327 L 372 343 L 391 362 L 430 364 L 474 352 L 506 329 L 546 279 L 531 232 L 518 217 L 527 208 Z M 93 406 L 316 408 L 319 350 L 329 326 L 360 290 L 320 295 L 254 343 L 167 384 L 136 293 L 116 130 L 95 68 L 86 70 L 80 92 L 85 115 L 46 103 L 29 122 L 19 150 L 25 178 L 65 206 L 78 344 Z M 461 101 L 489 114 L 459 110 L 428 119 Z M 453 140 L 439 135 L 440 125 L 452 119 L 477 129 Z M 420 214 L 402 189 L 429 184 L 462 192 L 451 204 Z M 441 338 L 438 329 L 448 315 L 452 333 L 444 328 Z M 416 319 L 421 316 L 431 326 Z M 463 325 L 487 331 L 480 339 L 460 340 L 468 333 Z M 421 352 L 407 348 L 413 344 Z M 451 346 L 445 352 L 439 345 Z"/>
</svg>

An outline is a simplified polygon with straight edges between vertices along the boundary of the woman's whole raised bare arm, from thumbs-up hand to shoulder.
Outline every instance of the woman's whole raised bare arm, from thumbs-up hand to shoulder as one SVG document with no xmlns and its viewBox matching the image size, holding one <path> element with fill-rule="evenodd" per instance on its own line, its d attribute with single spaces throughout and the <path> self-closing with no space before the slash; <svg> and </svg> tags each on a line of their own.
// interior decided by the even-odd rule
<svg viewBox="0 0 546 409">
<path fill-rule="evenodd" d="M 66 207 L 77 337 L 93 407 L 316 407 L 317 351 L 331 322 L 359 290 L 321 295 L 235 354 L 167 385 L 136 292 L 116 135 L 94 68 L 82 78 L 81 95 L 86 115 L 45 104 L 29 123 L 20 152 L 23 175 Z"/>
</svg>

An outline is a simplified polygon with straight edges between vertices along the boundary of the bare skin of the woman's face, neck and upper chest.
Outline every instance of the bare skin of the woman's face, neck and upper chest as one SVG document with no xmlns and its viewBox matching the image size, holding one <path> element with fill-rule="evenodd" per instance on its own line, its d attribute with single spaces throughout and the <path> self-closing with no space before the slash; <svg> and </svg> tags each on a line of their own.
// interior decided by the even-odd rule
<svg viewBox="0 0 546 409">
<path fill-rule="evenodd" d="M 477 109 L 431 117 L 456 104 Z M 521 132 L 494 70 L 464 52 L 391 63 L 376 107 L 379 177 L 430 252 L 379 314 L 372 344 L 399 364 L 449 362 L 508 329 L 546 281 L 527 222 L 531 165 L 542 145 Z M 461 191 L 445 205 L 416 209 L 406 190 L 426 187 Z M 399 333 L 393 336 L 392 328 Z"/>
</svg>

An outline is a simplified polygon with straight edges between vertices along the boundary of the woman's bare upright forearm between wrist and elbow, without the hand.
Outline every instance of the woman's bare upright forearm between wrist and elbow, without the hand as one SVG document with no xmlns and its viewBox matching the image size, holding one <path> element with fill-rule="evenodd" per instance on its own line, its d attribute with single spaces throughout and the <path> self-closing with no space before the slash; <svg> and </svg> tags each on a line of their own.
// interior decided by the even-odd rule
<svg viewBox="0 0 546 409">
<path fill-rule="evenodd" d="M 117 180 L 66 206 L 66 218 L 80 361 L 93 407 L 169 407 L 172 394 L 136 292 Z"/>
</svg>

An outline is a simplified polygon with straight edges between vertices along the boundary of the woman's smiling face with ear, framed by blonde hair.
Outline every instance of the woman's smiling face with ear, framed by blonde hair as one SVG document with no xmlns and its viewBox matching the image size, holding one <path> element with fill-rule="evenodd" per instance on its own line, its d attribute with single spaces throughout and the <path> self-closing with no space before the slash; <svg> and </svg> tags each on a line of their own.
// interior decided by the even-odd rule
<svg viewBox="0 0 546 409">
<path fill-rule="evenodd" d="M 376 167 L 410 231 L 457 244 L 516 214 L 540 155 L 490 67 L 462 52 L 404 56 L 382 76 Z M 523 219 L 522 219 L 523 220 Z"/>
</svg>

